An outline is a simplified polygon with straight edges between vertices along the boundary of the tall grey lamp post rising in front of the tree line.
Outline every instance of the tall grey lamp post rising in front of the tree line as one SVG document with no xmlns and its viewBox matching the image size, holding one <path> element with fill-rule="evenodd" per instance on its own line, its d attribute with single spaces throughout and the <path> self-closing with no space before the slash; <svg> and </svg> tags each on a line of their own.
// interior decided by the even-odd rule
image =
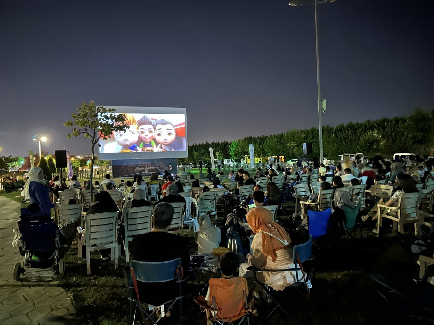
<svg viewBox="0 0 434 325">
<path fill-rule="evenodd" d="M 332 3 L 336 0 L 291 0 L 288 2 L 289 6 L 297 7 L 304 3 L 313 4 L 315 6 L 315 39 L 316 39 L 316 82 L 318 87 L 318 122 L 319 122 L 319 162 L 324 161 L 324 153 L 322 151 L 322 121 L 321 112 L 325 111 L 325 100 L 321 99 L 321 81 L 319 78 L 319 42 L 318 42 L 318 16 L 316 13 L 316 6 L 320 3 Z"/>
</svg>

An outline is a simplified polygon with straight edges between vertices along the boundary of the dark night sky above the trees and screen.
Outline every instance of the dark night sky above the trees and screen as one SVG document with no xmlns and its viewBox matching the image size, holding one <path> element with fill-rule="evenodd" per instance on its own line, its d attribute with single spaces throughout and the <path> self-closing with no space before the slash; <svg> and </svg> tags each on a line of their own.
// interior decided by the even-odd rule
<svg viewBox="0 0 434 325">
<path fill-rule="evenodd" d="M 0 155 L 90 153 L 82 101 L 187 107 L 189 143 L 318 126 L 313 6 L 287 0 L 0 1 Z M 434 108 L 432 0 L 319 6 L 323 124 Z"/>
</svg>

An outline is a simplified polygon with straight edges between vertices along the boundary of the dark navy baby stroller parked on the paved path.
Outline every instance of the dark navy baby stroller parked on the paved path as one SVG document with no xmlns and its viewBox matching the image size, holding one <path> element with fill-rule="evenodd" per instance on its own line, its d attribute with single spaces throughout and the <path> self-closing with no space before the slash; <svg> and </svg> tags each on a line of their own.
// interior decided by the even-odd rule
<svg viewBox="0 0 434 325">
<path fill-rule="evenodd" d="M 13 279 L 18 281 L 26 267 L 48 269 L 56 264 L 59 274 L 63 275 L 65 263 L 64 253 L 60 252 L 59 227 L 50 217 L 49 212 L 42 211 L 37 204 L 21 209 L 21 220 L 18 221 L 21 234 L 20 254 L 23 264 L 16 263 Z"/>
</svg>

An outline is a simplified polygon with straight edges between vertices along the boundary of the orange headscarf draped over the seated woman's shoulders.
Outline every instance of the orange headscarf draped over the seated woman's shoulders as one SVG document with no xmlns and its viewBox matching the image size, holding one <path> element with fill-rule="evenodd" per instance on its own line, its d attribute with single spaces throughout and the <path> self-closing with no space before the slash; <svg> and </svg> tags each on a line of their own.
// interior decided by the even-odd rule
<svg viewBox="0 0 434 325">
<path fill-rule="evenodd" d="M 276 260 L 276 252 L 286 249 L 291 243 L 288 233 L 279 224 L 271 222 L 273 220 L 273 214 L 266 208 L 256 207 L 250 210 L 246 219 L 250 229 L 252 229 L 255 234 L 259 231 L 267 233 L 262 236 L 261 252 L 266 256 L 270 256 L 274 262 Z M 272 236 L 270 236 L 270 234 Z M 273 236 L 276 236 L 278 239 Z"/>
</svg>

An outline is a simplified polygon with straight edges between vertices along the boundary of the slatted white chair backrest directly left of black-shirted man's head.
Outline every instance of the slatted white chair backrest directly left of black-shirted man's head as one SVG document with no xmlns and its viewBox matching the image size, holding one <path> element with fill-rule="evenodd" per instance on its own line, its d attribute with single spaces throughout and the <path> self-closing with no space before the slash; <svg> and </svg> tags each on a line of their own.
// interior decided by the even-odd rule
<svg viewBox="0 0 434 325">
<path fill-rule="evenodd" d="M 129 208 L 125 216 L 125 238 L 146 234 L 151 231 L 153 206 Z"/>
</svg>

